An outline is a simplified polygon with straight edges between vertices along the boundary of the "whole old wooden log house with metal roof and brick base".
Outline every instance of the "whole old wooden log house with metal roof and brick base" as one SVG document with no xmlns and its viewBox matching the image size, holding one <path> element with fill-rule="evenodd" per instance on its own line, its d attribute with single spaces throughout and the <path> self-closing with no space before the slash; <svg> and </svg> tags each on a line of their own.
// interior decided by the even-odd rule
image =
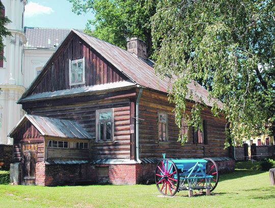
<svg viewBox="0 0 275 208">
<path fill-rule="evenodd" d="M 208 106 L 204 130 L 183 126 L 188 142 L 177 142 L 169 84 L 155 74 L 140 39 L 130 39 L 126 51 L 72 30 L 18 101 L 27 114 L 9 134 L 12 182 L 135 184 L 154 177 L 162 153 L 234 168 L 224 149 L 226 120 L 212 116 L 207 90 L 194 81 L 189 90 Z"/>
</svg>

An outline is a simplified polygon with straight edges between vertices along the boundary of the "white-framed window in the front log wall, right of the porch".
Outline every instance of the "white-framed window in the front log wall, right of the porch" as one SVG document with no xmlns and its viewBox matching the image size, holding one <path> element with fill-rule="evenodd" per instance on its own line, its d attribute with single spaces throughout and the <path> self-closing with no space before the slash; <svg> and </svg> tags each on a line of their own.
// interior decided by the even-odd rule
<svg viewBox="0 0 275 208">
<path fill-rule="evenodd" d="M 97 142 L 113 141 L 114 109 L 96 110 L 96 140 Z"/>
</svg>

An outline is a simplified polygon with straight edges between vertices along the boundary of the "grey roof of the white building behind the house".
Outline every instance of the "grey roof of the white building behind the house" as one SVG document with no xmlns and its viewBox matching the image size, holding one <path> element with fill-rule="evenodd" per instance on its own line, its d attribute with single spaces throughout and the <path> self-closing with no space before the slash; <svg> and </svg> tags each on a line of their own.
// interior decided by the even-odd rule
<svg viewBox="0 0 275 208">
<path fill-rule="evenodd" d="M 51 50 L 56 49 L 71 31 L 71 29 L 35 27 L 25 27 L 24 30 L 27 39 L 24 45 L 26 49 L 35 48 Z M 54 47 L 54 45 L 56 45 L 56 47 Z"/>
</svg>

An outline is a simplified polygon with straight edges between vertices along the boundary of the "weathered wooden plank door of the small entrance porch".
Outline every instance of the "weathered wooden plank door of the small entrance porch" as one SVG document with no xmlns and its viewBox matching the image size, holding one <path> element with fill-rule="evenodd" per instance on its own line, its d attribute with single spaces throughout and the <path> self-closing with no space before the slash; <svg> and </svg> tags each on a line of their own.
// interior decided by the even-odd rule
<svg viewBox="0 0 275 208">
<path fill-rule="evenodd" d="M 22 144 L 22 184 L 35 184 L 37 144 Z"/>
</svg>

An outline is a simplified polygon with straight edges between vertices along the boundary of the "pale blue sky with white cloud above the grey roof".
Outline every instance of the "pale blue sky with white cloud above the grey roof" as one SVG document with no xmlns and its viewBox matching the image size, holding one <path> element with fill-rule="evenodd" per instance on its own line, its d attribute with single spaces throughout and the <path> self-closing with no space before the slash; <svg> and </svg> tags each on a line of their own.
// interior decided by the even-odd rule
<svg viewBox="0 0 275 208">
<path fill-rule="evenodd" d="M 93 14 L 76 15 L 71 7 L 67 0 L 29 0 L 25 6 L 24 26 L 84 29 Z"/>
</svg>

